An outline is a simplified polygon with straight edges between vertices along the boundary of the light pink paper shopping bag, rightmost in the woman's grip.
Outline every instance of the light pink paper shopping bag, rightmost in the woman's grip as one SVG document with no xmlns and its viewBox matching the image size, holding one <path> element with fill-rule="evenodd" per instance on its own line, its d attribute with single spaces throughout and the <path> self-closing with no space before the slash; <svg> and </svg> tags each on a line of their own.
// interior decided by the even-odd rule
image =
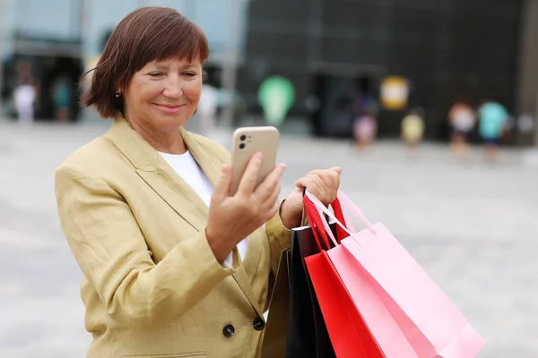
<svg viewBox="0 0 538 358">
<path fill-rule="evenodd" d="M 343 209 L 368 226 L 355 233 L 351 220 L 346 220 L 346 228 L 316 197 L 308 192 L 307 196 L 320 214 L 349 228 L 350 236 L 326 252 L 386 357 L 472 358 L 478 354 L 485 344 L 482 337 L 383 224 L 370 224 L 339 192 Z M 327 234 L 334 236 L 330 230 Z"/>
</svg>

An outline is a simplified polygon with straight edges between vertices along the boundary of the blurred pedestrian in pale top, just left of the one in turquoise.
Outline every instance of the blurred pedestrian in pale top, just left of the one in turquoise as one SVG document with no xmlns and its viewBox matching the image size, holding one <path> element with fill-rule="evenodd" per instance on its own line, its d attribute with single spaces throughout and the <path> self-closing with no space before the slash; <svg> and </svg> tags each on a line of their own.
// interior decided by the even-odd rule
<svg viewBox="0 0 538 358">
<path fill-rule="evenodd" d="M 448 121 L 452 126 L 452 149 L 458 159 L 467 157 L 467 136 L 476 124 L 476 113 L 464 101 L 456 102 L 448 112 Z"/>
</svg>

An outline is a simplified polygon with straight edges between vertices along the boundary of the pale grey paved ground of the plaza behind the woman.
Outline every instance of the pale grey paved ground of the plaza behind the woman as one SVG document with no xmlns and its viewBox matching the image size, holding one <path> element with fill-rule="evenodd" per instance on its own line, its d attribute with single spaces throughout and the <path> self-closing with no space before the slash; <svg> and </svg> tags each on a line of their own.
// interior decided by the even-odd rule
<svg viewBox="0 0 538 358">
<path fill-rule="evenodd" d="M 81 277 L 56 218 L 53 175 L 102 125 L 0 123 L 0 356 L 85 356 Z M 458 164 L 426 145 L 408 158 L 399 143 L 357 154 L 344 141 L 283 136 L 294 179 L 343 166 L 343 190 L 382 220 L 488 341 L 485 357 L 538 356 L 538 169 L 516 151 L 496 165 L 473 151 Z"/>
</svg>

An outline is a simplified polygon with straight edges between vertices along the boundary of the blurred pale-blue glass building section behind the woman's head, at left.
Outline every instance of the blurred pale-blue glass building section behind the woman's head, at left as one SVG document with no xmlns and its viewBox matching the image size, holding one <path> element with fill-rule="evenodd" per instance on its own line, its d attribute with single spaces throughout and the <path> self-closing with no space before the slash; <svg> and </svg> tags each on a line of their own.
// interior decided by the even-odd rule
<svg viewBox="0 0 538 358">
<path fill-rule="evenodd" d="M 234 64 L 242 60 L 235 54 L 244 53 L 242 34 L 246 33 L 247 3 L 246 0 L 0 0 L 3 115 L 15 115 L 12 94 L 23 72 L 24 76 L 35 79 L 39 89 L 35 113 L 38 119 L 57 119 L 55 100 L 61 101 L 58 93 L 65 92 L 70 94 L 69 100 L 64 98 L 70 105 L 69 120 L 94 119 L 94 114 L 80 111 L 76 106 L 78 81 L 83 72 L 97 63 L 117 23 L 141 6 L 173 7 L 199 24 L 212 50 L 206 64 L 208 81 L 221 86 L 223 64 L 230 64 L 229 59 Z"/>
</svg>

